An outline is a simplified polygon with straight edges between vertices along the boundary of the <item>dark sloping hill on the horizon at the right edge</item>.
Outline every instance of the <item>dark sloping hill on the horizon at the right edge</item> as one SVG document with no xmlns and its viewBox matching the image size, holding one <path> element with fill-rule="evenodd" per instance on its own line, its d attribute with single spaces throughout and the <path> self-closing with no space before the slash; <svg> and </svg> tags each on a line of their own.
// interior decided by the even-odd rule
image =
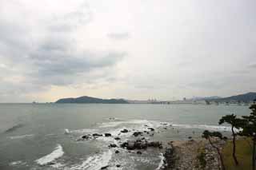
<svg viewBox="0 0 256 170">
<path fill-rule="evenodd" d="M 254 101 L 256 99 L 256 93 L 250 92 L 245 94 L 239 94 L 231 97 L 222 97 L 218 99 L 212 99 L 210 101 Z"/>
</svg>

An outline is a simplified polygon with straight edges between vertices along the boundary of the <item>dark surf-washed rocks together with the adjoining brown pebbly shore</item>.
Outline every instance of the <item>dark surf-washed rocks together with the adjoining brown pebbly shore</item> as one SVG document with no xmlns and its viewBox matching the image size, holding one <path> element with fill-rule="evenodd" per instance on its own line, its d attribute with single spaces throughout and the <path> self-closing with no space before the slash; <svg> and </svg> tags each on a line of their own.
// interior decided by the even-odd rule
<svg viewBox="0 0 256 170">
<path fill-rule="evenodd" d="M 165 130 L 172 125 L 164 125 Z M 187 140 L 175 140 L 163 143 L 162 141 L 150 140 L 149 136 L 154 136 L 154 132 L 158 132 L 158 129 L 144 125 L 143 131 L 135 129 L 123 128 L 119 131 L 118 135 L 113 135 L 109 132 L 106 133 L 93 133 L 81 136 L 78 140 L 94 140 L 97 138 L 113 138 L 112 142 L 108 145 L 110 149 L 114 149 L 114 152 L 118 154 L 120 150 L 125 149 L 127 152 L 134 152 L 143 156 L 143 152 L 147 148 L 158 149 L 158 152 L 162 154 L 162 163 L 159 164 L 157 170 L 194 170 L 194 169 L 206 169 L 215 170 L 219 169 L 218 154 L 210 146 L 208 141 L 201 138 L 192 139 L 188 137 Z M 122 133 L 130 132 L 132 139 L 122 138 Z M 222 147 L 222 143 L 218 140 L 214 141 Z M 116 164 L 116 167 L 122 167 L 122 164 Z M 108 165 L 102 167 L 102 169 L 109 168 Z"/>
</svg>

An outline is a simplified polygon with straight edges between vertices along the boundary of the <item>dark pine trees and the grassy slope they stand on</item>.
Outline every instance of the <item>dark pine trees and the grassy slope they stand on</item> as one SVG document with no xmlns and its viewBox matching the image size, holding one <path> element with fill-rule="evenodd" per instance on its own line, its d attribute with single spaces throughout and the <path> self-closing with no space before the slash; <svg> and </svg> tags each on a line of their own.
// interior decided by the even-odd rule
<svg viewBox="0 0 256 170">
<path fill-rule="evenodd" d="M 234 114 L 226 115 L 219 120 L 219 125 L 224 123 L 231 125 L 232 141 L 229 141 L 224 149 L 220 150 L 217 145 L 214 145 L 211 138 L 215 137 L 223 140 L 222 133 L 204 131 L 202 137 L 210 142 L 210 145 L 218 152 L 221 160 L 222 169 L 249 169 L 256 168 L 256 105 L 250 106 L 251 113 L 249 116 L 237 118 Z M 234 132 L 234 128 L 241 129 L 239 132 Z M 245 136 L 245 138 L 236 140 L 236 136 Z M 222 156 L 223 154 L 223 156 Z M 232 158 L 231 158 L 232 156 Z M 251 157 L 251 158 L 249 158 Z M 233 160 L 234 164 L 230 162 Z M 239 164 L 239 166 L 238 166 Z"/>
</svg>

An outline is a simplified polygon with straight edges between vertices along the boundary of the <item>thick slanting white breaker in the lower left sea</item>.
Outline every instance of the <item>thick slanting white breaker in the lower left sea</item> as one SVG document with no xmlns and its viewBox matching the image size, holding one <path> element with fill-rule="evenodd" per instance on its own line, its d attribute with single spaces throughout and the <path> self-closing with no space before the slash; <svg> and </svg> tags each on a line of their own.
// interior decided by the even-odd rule
<svg viewBox="0 0 256 170">
<path fill-rule="evenodd" d="M 61 157 L 64 154 L 63 148 L 61 144 L 58 144 L 56 148 L 54 148 L 54 151 L 51 152 L 50 154 L 43 156 L 42 158 L 35 160 L 38 164 L 44 165 L 48 164 L 59 157 Z"/>
</svg>

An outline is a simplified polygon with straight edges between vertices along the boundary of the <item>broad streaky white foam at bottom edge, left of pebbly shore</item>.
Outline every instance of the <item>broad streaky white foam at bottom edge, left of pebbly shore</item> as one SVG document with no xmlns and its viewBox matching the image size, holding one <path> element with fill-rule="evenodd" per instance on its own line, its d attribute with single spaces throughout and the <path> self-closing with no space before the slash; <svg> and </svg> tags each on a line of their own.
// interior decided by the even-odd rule
<svg viewBox="0 0 256 170">
<path fill-rule="evenodd" d="M 108 150 L 103 152 L 100 155 L 90 156 L 82 162 L 82 164 L 75 165 L 70 168 L 70 170 L 78 170 L 78 169 L 90 169 L 90 170 L 98 170 L 104 166 L 107 166 L 112 158 L 113 152 Z"/>
</svg>

